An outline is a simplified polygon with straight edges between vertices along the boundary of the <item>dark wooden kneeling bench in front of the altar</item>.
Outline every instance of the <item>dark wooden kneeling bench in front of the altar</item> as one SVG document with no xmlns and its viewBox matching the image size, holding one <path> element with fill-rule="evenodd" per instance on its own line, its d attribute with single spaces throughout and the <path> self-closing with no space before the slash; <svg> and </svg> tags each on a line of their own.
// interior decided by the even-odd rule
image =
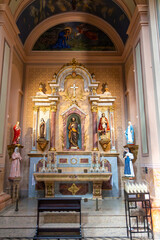
<svg viewBox="0 0 160 240">
<path fill-rule="evenodd" d="M 46 228 L 39 226 L 41 212 L 79 212 L 79 227 Z M 37 228 L 34 239 L 82 239 L 81 198 L 40 198 L 37 207 Z"/>
</svg>

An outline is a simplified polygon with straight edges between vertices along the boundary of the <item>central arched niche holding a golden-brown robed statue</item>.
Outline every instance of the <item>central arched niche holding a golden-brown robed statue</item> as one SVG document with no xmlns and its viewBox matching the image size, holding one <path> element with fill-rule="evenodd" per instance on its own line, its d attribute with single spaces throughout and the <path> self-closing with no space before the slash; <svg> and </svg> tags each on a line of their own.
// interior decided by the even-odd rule
<svg viewBox="0 0 160 240">
<path fill-rule="evenodd" d="M 67 119 L 67 149 L 82 149 L 81 119 L 78 114 L 71 114 Z"/>
</svg>

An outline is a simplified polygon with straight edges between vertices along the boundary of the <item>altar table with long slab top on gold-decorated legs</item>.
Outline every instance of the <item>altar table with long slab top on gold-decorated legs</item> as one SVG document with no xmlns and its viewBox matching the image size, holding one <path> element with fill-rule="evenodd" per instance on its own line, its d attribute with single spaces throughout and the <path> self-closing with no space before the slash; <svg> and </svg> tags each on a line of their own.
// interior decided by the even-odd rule
<svg viewBox="0 0 160 240">
<path fill-rule="evenodd" d="M 55 182 L 93 182 L 93 199 L 102 199 L 102 183 L 109 181 L 112 176 L 111 172 L 106 173 L 34 173 L 34 178 L 37 182 L 45 183 L 45 197 L 54 197 Z"/>
</svg>

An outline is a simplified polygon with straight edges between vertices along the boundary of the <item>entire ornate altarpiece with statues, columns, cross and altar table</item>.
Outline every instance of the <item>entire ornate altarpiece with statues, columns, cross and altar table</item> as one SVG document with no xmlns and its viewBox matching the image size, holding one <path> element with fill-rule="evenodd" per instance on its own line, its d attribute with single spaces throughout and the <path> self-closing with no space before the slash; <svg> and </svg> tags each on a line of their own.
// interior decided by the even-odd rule
<svg viewBox="0 0 160 240">
<path fill-rule="evenodd" d="M 107 83 L 97 93 L 100 82 L 75 59 L 48 84 L 49 94 L 40 83 L 32 97 L 29 197 L 44 189 L 46 196 L 119 197 L 116 96 Z"/>
</svg>

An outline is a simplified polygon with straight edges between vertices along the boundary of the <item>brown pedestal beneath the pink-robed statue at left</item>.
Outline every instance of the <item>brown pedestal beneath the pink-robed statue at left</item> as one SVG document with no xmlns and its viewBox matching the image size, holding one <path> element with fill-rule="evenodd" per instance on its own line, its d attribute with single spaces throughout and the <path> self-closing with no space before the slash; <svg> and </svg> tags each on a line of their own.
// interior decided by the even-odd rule
<svg viewBox="0 0 160 240">
<path fill-rule="evenodd" d="M 11 185 L 11 197 L 12 201 L 15 202 L 19 198 L 19 184 L 21 177 L 8 178 Z"/>
</svg>

